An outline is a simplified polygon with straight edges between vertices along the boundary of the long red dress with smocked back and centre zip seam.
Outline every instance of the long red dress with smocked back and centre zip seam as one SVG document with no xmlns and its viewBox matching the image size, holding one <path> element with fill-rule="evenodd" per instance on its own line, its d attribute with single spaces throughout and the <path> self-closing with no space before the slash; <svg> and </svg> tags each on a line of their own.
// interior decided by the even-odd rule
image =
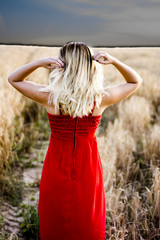
<svg viewBox="0 0 160 240">
<path fill-rule="evenodd" d="M 47 114 L 51 136 L 39 187 L 40 239 L 104 240 L 106 201 L 95 136 L 101 115 Z"/>
</svg>

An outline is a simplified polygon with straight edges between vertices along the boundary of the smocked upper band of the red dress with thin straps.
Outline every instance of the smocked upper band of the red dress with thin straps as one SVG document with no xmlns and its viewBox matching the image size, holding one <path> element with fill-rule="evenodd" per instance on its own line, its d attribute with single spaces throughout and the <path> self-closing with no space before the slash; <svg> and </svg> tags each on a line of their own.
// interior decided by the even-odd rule
<svg viewBox="0 0 160 240">
<path fill-rule="evenodd" d="M 95 101 L 94 101 L 95 107 Z M 93 110 L 91 115 L 83 117 L 75 117 L 70 115 L 62 115 L 60 109 L 60 115 L 53 115 L 47 112 L 51 133 L 53 132 L 68 132 L 68 133 L 95 133 L 101 119 L 101 115 L 93 116 Z"/>
</svg>

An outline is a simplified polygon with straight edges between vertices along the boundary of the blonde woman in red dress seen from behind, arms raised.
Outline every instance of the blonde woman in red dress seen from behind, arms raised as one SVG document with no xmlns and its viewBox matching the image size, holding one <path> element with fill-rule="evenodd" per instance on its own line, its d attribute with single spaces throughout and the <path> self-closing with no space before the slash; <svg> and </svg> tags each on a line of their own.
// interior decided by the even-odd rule
<svg viewBox="0 0 160 240">
<path fill-rule="evenodd" d="M 125 83 L 103 87 L 100 64 L 112 64 Z M 49 85 L 24 81 L 38 67 L 52 70 Z M 106 202 L 96 129 L 103 111 L 142 83 L 129 66 L 106 52 L 93 55 L 69 42 L 59 58 L 41 58 L 15 70 L 8 81 L 48 114 L 51 138 L 39 191 L 41 240 L 104 240 Z"/>
</svg>

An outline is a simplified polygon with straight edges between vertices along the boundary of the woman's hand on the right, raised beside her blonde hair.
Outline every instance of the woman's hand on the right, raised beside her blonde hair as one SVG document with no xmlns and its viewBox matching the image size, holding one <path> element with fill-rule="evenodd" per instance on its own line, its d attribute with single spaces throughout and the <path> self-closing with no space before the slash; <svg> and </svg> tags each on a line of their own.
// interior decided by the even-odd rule
<svg viewBox="0 0 160 240">
<path fill-rule="evenodd" d="M 94 54 L 94 60 L 101 64 L 112 64 L 114 59 L 114 57 L 106 52 L 98 51 Z"/>
</svg>

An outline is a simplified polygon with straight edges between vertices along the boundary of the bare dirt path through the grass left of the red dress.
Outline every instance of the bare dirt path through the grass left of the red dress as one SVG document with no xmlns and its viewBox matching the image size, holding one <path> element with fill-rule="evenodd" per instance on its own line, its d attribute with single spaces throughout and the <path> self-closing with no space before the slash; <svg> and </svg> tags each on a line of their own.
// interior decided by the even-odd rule
<svg viewBox="0 0 160 240">
<path fill-rule="evenodd" d="M 23 171 L 23 182 L 24 187 L 24 196 L 21 204 L 27 204 L 29 206 L 36 206 L 39 199 L 39 183 L 41 179 L 43 160 L 48 147 L 48 141 L 41 143 L 41 147 L 34 149 L 33 152 L 29 155 L 29 159 L 25 159 L 24 162 L 29 162 L 31 159 L 38 159 L 38 161 L 32 161 L 33 167 L 24 168 Z M 39 157 L 41 156 L 41 157 Z M 31 200 L 32 199 L 32 200 Z M 33 200 L 34 199 L 34 200 Z M 4 217 L 2 223 L 1 235 L 5 236 L 3 240 L 18 239 L 24 240 L 25 238 L 22 235 L 20 229 L 20 224 L 24 222 L 23 217 L 17 217 L 21 213 L 22 209 L 18 207 L 13 207 L 8 203 L 4 203 L 0 207 L 1 215 Z"/>
</svg>

